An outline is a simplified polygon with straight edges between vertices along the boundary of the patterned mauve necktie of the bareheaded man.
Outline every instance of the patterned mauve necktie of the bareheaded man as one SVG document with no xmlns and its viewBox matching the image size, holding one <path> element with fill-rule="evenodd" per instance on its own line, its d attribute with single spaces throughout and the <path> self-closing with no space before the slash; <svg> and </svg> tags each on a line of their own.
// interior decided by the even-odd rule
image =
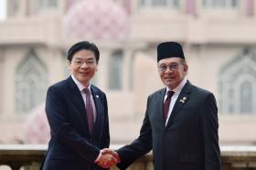
<svg viewBox="0 0 256 170">
<path fill-rule="evenodd" d="M 93 128 L 93 107 L 91 104 L 91 92 L 88 88 L 83 89 L 84 93 L 86 94 L 86 115 L 87 115 L 87 120 L 88 120 L 88 127 L 90 134 L 92 133 L 92 128 Z"/>
</svg>

